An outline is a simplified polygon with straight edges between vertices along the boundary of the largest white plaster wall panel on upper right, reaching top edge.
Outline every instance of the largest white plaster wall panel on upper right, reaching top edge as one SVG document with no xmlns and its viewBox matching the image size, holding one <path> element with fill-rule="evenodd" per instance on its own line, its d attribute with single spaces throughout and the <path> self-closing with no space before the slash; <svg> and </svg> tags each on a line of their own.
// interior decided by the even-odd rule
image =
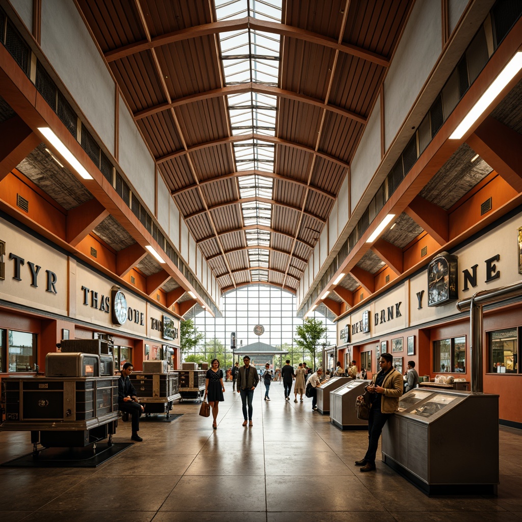
<svg viewBox="0 0 522 522">
<path fill-rule="evenodd" d="M 440 0 L 416 2 L 384 82 L 385 148 L 395 138 L 442 50 Z M 404 81 L 408 78 L 408 81 Z M 358 192 L 351 187 L 352 201 Z M 355 194 L 354 194 L 355 192 Z M 359 194 L 360 195 L 360 194 Z"/>
</svg>

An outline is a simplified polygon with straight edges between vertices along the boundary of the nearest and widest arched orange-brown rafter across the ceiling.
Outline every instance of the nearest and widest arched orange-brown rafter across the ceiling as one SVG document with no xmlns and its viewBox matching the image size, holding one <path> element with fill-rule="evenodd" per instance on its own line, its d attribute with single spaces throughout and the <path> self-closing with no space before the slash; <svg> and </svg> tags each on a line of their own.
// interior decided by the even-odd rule
<svg viewBox="0 0 522 522">
<path fill-rule="evenodd" d="M 343 18 L 346 19 L 347 11 Z M 383 67 L 388 67 L 389 58 L 382 56 L 367 49 L 363 49 L 356 45 L 351 45 L 342 42 L 342 34 L 339 40 L 335 38 L 329 38 L 322 34 L 315 33 L 313 31 L 307 31 L 299 27 L 289 26 L 286 24 L 270 22 L 267 20 L 259 20 L 251 16 L 240 18 L 237 20 L 221 20 L 219 22 L 214 21 L 211 23 L 204 23 L 199 26 L 187 27 L 179 31 L 173 31 L 167 34 L 160 34 L 154 38 L 150 38 L 148 35 L 146 40 L 140 40 L 128 45 L 123 45 L 120 48 L 113 49 L 104 54 L 107 62 L 114 62 L 120 60 L 125 56 L 131 56 L 132 54 L 140 53 L 147 50 L 153 50 L 161 45 L 167 45 L 170 43 L 181 42 L 183 40 L 189 40 L 192 38 L 200 38 L 208 34 L 216 34 L 228 31 L 240 31 L 242 29 L 253 29 L 256 31 L 268 32 L 271 34 L 279 34 L 298 40 L 304 40 L 306 42 L 315 43 L 317 45 L 323 45 L 329 49 L 335 49 L 337 53 L 342 52 L 350 54 L 362 60 L 373 62 Z"/>
</svg>

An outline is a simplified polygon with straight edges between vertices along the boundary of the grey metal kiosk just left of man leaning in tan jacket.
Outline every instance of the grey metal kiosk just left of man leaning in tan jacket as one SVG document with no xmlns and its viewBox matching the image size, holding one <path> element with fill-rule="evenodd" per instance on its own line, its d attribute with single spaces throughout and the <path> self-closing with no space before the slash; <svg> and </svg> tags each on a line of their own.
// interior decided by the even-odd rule
<svg viewBox="0 0 522 522">
<path fill-rule="evenodd" d="M 370 381 L 355 379 L 330 392 L 330 422 L 341 430 L 365 430 L 368 421 L 357 418 L 355 399 L 364 393 Z"/>
</svg>

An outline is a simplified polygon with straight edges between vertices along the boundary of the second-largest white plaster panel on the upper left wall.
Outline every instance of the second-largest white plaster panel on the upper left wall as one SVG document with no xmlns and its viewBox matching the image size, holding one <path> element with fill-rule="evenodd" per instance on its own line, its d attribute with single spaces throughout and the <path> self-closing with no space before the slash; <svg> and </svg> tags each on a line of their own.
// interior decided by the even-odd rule
<svg viewBox="0 0 522 522">
<path fill-rule="evenodd" d="M 126 105 L 120 100 L 120 165 L 149 210 L 154 209 L 154 161 Z"/>
</svg>

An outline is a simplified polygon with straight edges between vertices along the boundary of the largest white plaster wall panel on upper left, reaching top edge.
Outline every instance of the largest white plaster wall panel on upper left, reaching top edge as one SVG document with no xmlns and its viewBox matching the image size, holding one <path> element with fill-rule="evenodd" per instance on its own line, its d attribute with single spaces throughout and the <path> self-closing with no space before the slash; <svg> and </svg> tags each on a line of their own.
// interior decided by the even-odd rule
<svg viewBox="0 0 522 522">
<path fill-rule="evenodd" d="M 42 2 L 41 40 L 54 70 L 114 155 L 114 81 L 74 2 Z"/>
</svg>

